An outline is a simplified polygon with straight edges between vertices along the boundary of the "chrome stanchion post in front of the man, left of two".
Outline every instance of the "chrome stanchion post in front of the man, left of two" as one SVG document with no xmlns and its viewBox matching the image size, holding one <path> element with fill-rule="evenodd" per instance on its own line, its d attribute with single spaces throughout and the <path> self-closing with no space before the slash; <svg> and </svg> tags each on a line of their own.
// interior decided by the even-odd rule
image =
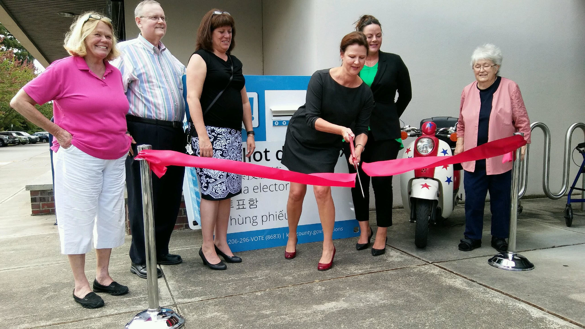
<svg viewBox="0 0 585 329">
<path fill-rule="evenodd" d="M 151 145 L 138 145 L 138 152 L 152 149 Z M 142 214 L 144 217 L 144 245 L 146 248 L 146 280 L 148 282 L 148 309 L 136 314 L 126 329 L 181 328 L 185 319 L 171 309 L 159 305 L 159 282 L 156 273 L 156 243 L 154 241 L 154 216 L 152 205 L 152 180 L 150 165 L 140 160 L 140 181 L 142 183 Z"/>
</svg>

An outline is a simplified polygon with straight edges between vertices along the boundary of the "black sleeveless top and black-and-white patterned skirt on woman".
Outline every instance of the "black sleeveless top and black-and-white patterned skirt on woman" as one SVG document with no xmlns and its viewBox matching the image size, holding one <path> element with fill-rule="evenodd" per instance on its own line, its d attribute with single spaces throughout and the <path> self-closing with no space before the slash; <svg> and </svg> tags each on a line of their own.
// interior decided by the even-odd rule
<svg viewBox="0 0 585 329">
<path fill-rule="evenodd" d="M 242 88 L 245 79 L 242 62 L 229 55 L 225 61 L 208 50 L 199 49 L 199 54 L 207 65 L 207 73 L 201 91 L 201 110 L 205 111 L 220 91 L 222 95 L 203 116 L 205 129 L 213 147 L 213 157 L 217 159 L 242 160 Z M 232 75 L 233 78 L 229 81 Z M 228 84 L 229 83 L 229 84 Z M 228 86 L 226 88 L 226 85 Z M 191 139 L 191 147 L 199 156 L 199 138 Z M 205 200 L 225 200 L 242 193 L 242 176 L 218 170 L 195 168 L 201 198 Z"/>
</svg>

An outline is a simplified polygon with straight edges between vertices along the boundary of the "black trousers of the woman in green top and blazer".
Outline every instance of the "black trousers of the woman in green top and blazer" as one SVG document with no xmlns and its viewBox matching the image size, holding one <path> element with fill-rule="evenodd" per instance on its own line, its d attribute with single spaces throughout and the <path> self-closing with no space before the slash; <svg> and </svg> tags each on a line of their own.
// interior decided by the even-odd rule
<svg viewBox="0 0 585 329">
<path fill-rule="evenodd" d="M 360 165 L 357 167 L 360 179 L 362 179 L 362 191 L 359 187 L 352 187 L 353 207 L 356 212 L 356 219 L 358 221 L 370 220 L 370 176 L 362 170 L 363 162 L 376 162 L 384 160 L 394 160 L 398 156 L 400 143 L 394 139 L 389 140 L 374 140 L 373 136 L 368 136 L 366 148 L 362 152 L 362 159 Z M 343 153 L 346 159 L 349 159 L 350 150 L 349 144 L 343 143 Z M 355 173 L 356 169 L 347 163 L 347 168 L 350 173 Z M 357 182 L 359 183 L 359 182 Z M 371 185 L 374 189 L 374 198 L 376 202 L 376 225 L 378 227 L 392 226 L 392 176 L 371 177 Z"/>
</svg>

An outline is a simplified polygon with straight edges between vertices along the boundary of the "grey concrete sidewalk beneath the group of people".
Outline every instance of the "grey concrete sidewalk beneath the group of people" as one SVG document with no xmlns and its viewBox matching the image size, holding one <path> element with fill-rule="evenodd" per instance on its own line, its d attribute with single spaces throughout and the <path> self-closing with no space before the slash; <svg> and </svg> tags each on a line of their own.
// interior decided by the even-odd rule
<svg viewBox="0 0 585 329">
<path fill-rule="evenodd" d="M 4 327 L 122 328 L 146 308 L 146 280 L 129 273 L 129 241 L 113 251 L 111 273 L 130 293 L 101 294 L 106 305 L 97 310 L 75 303 L 54 218 L 29 216 L 23 192 L 13 200 L 22 201 L 18 209 L 0 205 Z M 518 248 L 536 265 L 529 272 L 487 264 L 495 254 L 489 221 L 481 248 L 458 251 L 460 206 L 447 225 L 431 229 L 426 249 L 414 246 L 414 224 L 396 210 L 385 255 L 356 251 L 355 238 L 336 240 L 326 272 L 316 270 L 319 243 L 299 245 L 292 260 L 283 247 L 240 252 L 243 263 L 212 271 L 197 255 L 201 234 L 175 232 L 171 248 L 184 262 L 162 266 L 161 305 L 183 315 L 185 328 L 585 328 L 585 218 L 567 228 L 564 201 L 523 204 Z M 87 276 L 95 276 L 94 254 Z"/>
</svg>

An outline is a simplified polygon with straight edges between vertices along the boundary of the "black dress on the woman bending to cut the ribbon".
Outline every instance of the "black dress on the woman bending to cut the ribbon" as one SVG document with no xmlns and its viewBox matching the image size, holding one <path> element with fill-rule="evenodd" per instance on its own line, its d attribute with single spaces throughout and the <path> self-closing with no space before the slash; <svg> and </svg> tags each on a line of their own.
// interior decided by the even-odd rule
<svg viewBox="0 0 585 329">
<path fill-rule="evenodd" d="M 353 126 L 357 136 L 367 133 L 374 97 L 362 83 L 349 88 L 337 83 L 329 68 L 316 71 L 309 81 L 305 105 L 290 119 L 281 163 L 293 172 L 332 173 L 343 142 L 335 133 L 317 131 L 315 121 L 322 118 L 340 126 Z"/>
</svg>

